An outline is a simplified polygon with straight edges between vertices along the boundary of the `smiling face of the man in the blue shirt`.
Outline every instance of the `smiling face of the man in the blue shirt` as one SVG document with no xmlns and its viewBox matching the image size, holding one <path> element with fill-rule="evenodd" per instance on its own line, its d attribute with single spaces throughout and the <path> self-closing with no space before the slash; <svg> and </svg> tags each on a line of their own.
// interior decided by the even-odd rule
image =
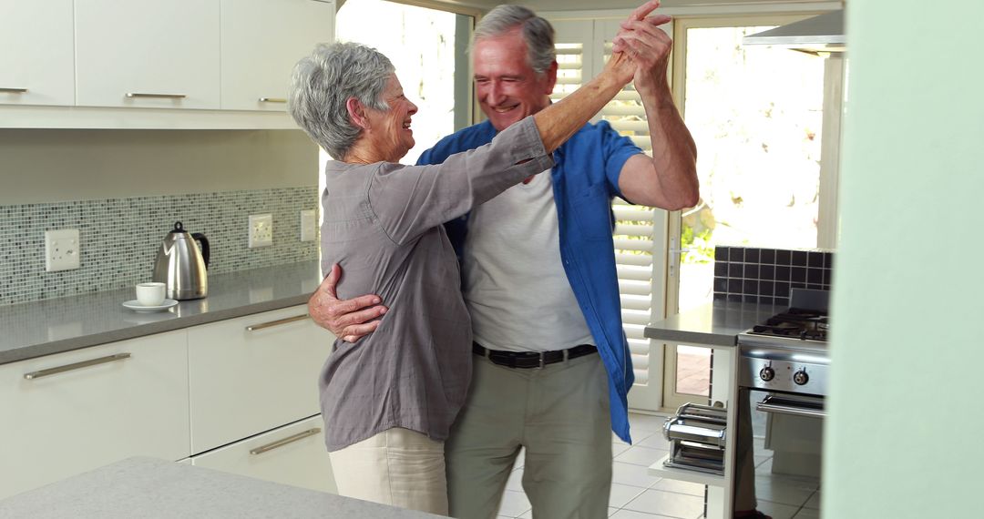
<svg viewBox="0 0 984 519">
<path fill-rule="evenodd" d="M 473 51 L 478 104 L 496 130 L 505 130 L 550 104 L 557 64 L 537 76 L 527 63 L 519 29 L 480 39 Z"/>
</svg>

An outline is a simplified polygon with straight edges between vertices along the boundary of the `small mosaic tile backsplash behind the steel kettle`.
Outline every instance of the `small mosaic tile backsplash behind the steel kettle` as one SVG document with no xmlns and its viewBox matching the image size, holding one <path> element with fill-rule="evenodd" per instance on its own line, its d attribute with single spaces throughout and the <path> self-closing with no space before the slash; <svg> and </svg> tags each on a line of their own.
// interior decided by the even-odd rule
<svg viewBox="0 0 984 519">
<path fill-rule="evenodd" d="M 0 306 L 150 281 L 157 248 L 179 220 L 209 239 L 210 273 L 318 259 L 318 240 L 300 241 L 300 211 L 317 207 L 313 186 L 0 205 Z M 274 215 L 274 245 L 249 249 L 249 215 L 263 213 Z M 44 231 L 54 229 L 79 229 L 80 268 L 44 271 Z"/>
</svg>

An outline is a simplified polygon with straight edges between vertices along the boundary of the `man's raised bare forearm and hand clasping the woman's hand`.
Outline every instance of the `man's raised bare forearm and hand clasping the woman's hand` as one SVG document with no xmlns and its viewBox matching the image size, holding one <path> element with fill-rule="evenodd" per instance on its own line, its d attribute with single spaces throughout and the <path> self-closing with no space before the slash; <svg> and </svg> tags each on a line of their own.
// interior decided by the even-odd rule
<svg viewBox="0 0 984 519">
<path fill-rule="evenodd" d="M 613 50 L 621 50 L 638 65 L 635 86 L 643 98 L 652 144 L 652 158 L 639 154 L 626 161 L 619 190 L 629 202 L 669 210 L 697 204 L 697 145 L 673 104 L 666 81 L 673 41 L 659 26 L 670 17 L 650 18 L 634 13 L 622 23 Z"/>
</svg>

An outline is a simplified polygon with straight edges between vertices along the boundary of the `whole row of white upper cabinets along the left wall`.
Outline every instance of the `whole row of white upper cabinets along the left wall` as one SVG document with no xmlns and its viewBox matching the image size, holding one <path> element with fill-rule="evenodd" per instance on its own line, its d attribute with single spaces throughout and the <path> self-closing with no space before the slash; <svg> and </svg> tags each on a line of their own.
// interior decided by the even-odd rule
<svg viewBox="0 0 984 519">
<path fill-rule="evenodd" d="M 296 128 L 320 0 L 0 0 L 0 128 Z"/>
</svg>

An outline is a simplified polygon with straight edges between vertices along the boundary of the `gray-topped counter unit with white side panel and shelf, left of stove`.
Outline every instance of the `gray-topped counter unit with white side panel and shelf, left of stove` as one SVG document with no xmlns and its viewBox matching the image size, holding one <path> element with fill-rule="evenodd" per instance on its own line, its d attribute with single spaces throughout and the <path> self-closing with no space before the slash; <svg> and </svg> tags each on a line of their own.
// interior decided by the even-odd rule
<svg viewBox="0 0 984 519">
<path fill-rule="evenodd" d="M 670 345 L 699 346 L 712 350 L 709 400 L 727 407 L 728 430 L 733 432 L 737 430 L 737 336 L 778 310 L 781 309 L 771 305 L 714 301 L 650 323 L 645 334 L 650 339 Z M 695 403 L 707 403 L 701 400 L 703 397 Z M 649 473 L 660 478 L 707 485 L 707 519 L 731 517 L 735 436 L 734 433 L 726 436 L 723 476 L 667 468 L 663 466 L 665 458 L 649 466 Z"/>
</svg>

